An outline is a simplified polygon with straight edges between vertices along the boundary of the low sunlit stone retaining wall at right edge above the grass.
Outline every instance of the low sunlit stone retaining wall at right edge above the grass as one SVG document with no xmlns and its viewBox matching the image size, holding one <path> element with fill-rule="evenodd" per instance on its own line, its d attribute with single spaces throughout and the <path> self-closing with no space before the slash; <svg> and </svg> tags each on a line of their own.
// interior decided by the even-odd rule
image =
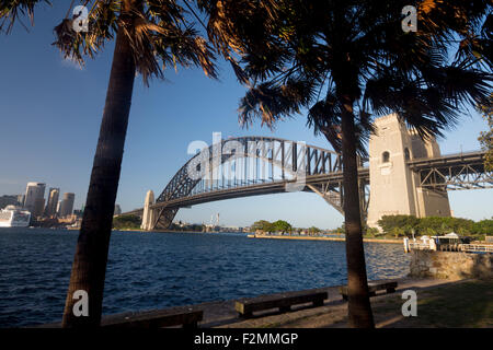
<svg viewBox="0 0 493 350">
<path fill-rule="evenodd" d="M 493 278 L 493 254 L 412 250 L 411 277 Z"/>
</svg>

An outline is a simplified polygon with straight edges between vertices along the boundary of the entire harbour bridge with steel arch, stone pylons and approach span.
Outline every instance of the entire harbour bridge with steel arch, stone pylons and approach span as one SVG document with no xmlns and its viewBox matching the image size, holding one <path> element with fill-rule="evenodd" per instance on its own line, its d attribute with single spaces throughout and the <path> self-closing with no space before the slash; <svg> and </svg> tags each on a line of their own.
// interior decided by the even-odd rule
<svg viewBox="0 0 493 350">
<path fill-rule="evenodd" d="M 398 144 L 400 148 L 401 143 Z M 392 149 L 392 145 L 386 147 Z M 493 173 L 484 168 L 484 151 L 412 156 L 405 149 L 402 154 L 394 152 L 395 158 L 392 161 L 380 160 L 380 154 L 371 153 L 370 143 L 370 159 L 375 158 L 376 161 L 359 159 L 359 209 L 363 220 L 367 218 L 370 202 L 375 201 L 370 201 L 370 184 L 377 183 L 376 176 L 386 176 L 382 165 L 372 165 L 380 162 L 394 167 L 390 176 L 406 176 L 409 173 L 412 187 L 432 195 L 446 196 L 447 190 L 493 188 Z M 400 161 L 403 173 L 399 173 Z M 382 170 L 370 172 L 370 167 L 377 166 Z M 144 208 L 124 214 L 141 217 L 145 230 L 167 229 L 180 208 L 231 198 L 293 191 L 314 192 L 344 213 L 342 155 L 331 150 L 279 138 L 229 138 L 216 140 L 211 145 L 202 148 L 176 172 L 156 201 L 153 194 L 148 192 Z M 446 199 L 448 206 L 448 197 Z M 382 207 L 380 209 L 383 211 L 379 212 L 392 212 L 386 211 L 386 202 L 391 201 L 382 198 L 378 205 L 372 206 Z M 416 214 L 413 210 L 400 213 Z M 420 215 L 423 217 L 423 212 Z"/>
</svg>

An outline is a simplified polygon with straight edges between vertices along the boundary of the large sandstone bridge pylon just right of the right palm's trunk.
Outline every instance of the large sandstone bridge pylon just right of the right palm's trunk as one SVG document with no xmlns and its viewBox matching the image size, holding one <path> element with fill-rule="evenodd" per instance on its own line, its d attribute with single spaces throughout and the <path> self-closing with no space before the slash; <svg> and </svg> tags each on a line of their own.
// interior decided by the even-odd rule
<svg viewBox="0 0 493 350">
<path fill-rule="evenodd" d="M 395 114 L 375 120 L 369 141 L 370 201 L 367 224 L 378 228 L 382 215 L 449 217 L 447 191 L 419 187 L 417 174 L 406 162 L 440 155 L 435 139 L 423 141 Z"/>
</svg>

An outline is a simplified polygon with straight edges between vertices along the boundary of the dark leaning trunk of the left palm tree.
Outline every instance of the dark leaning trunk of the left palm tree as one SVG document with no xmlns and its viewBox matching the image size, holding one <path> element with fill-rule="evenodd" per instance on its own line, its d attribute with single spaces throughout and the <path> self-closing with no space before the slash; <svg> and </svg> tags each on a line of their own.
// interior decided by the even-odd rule
<svg viewBox="0 0 493 350">
<path fill-rule="evenodd" d="M 119 25 L 100 138 L 65 304 L 64 327 L 98 327 L 101 322 L 110 236 L 135 72 L 130 45 L 123 25 Z M 88 293 L 88 316 L 77 316 L 73 313 L 73 306 L 79 301 L 73 299 L 73 293 L 78 290 Z"/>
</svg>

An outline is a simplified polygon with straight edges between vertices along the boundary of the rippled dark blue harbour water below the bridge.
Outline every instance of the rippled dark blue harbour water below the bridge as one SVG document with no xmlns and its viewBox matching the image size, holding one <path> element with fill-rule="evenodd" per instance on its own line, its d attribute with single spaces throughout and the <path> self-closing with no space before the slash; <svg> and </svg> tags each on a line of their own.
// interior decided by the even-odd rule
<svg viewBox="0 0 493 350">
<path fill-rule="evenodd" d="M 0 229 L 0 327 L 58 322 L 77 231 Z M 402 245 L 365 243 L 368 278 L 409 273 Z M 344 242 L 238 233 L 112 234 L 103 313 L 164 308 L 346 282 Z"/>
</svg>

